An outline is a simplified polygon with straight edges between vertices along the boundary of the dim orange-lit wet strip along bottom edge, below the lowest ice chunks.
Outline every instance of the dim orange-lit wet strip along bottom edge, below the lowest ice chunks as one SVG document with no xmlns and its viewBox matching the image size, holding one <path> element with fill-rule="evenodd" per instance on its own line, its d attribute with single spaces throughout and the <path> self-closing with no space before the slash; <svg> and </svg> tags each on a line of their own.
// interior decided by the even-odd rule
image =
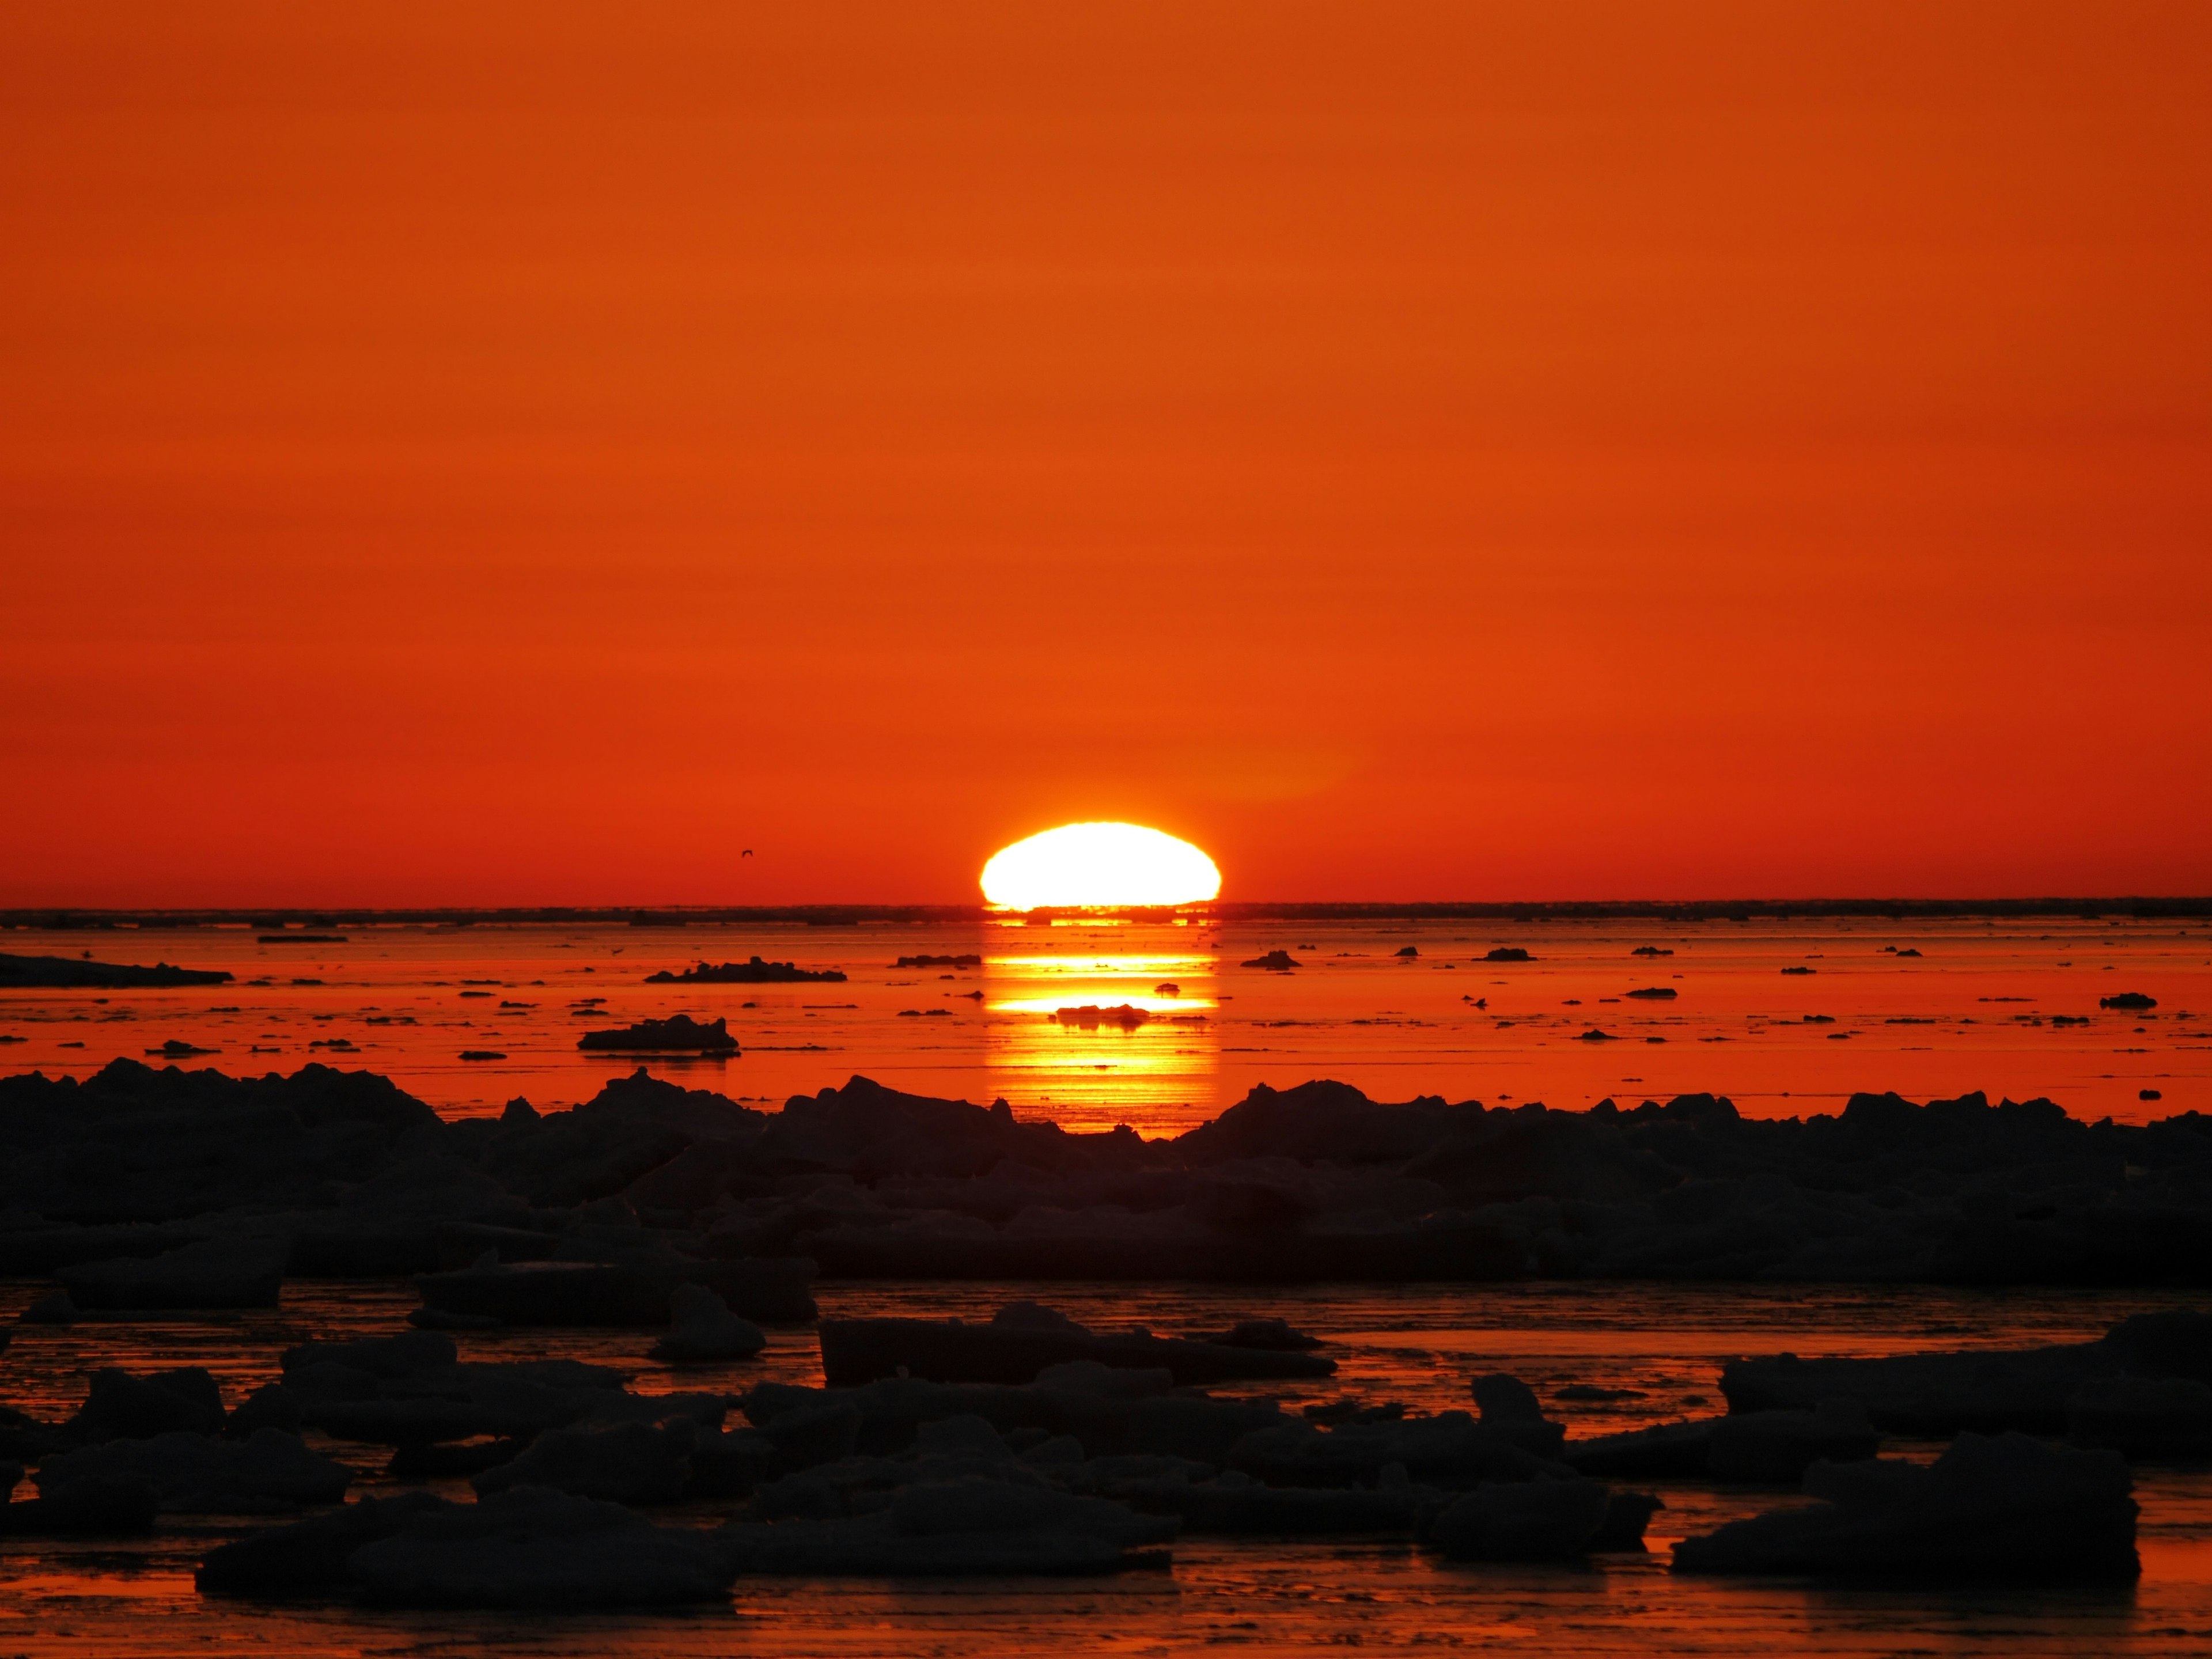
<svg viewBox="0 0 2212 1659">
<path fill-rule="evenodd" d="M 1407 1546 L 1179 1546 L 1172 1575 L 1088 1582 L 741 1584 L 721 1610 L 653 1617 L 361 1615 L 188 1606 L 184 1553 L 119 1595 L 40 1593 L 0 1624 L 22 1652 L 177 1655 L 1181 1655 L 1491 1650 L 1526 1655 L 2181 1655 L 2212 1641 L 2201 1584 L 1927 1595 L 1717 1590 L 1657 1562 L 1436 1564 Z M 7 1617 L 7 1610 L 0 1610 Z M 241 1628 L 248 1624 L 248 1628 Z M 18 1630 L 9 1630 L 18 1626 Z"/>
</svg>

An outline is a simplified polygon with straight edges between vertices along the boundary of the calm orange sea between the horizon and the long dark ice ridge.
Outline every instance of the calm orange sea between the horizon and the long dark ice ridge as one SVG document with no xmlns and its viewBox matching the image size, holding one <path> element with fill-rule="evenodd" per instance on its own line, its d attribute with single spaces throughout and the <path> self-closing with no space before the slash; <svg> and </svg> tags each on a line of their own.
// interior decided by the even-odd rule
<svg viewBox="0 0 2212 1659">
<path fill-rule="evenodd" d="M 1495 947 L 1533 960 L 1484 962 Z M 1860 1088 L 2046 1095 L 2121 1121 L 2212 1110 L 2203 922 L 394 925 L 347 929 L 343 945 L 261 945 L 212 927 L 13 929 L 0 949 L 239 975 L 190 991 L 0 991 L 0 1035 L 18 1040 L 0 1044 L 0 1068 L 86 1075 L 175 1040 L 212 1051 L 181 1064 L 228 1073 L 307 1060 L 378 1071 L 456 1117 L 515 1095 L 566 1106 L 637 1064 L 757 1104 L 860 1073 L 1146 1135 L 1214 1117 L 1252 1084 L 1310 1077 L 1387 1099 L 1568 1108 L 1714 1091 L 1767 1117 L 1834 1110 Z M 1243 967 L 1272 949 L 1301 967 Z M 849 980 L 644 982 L 748 956 Z M 902 956 L 982 964 L 894 967 Z M 1674 995 L 1628 995 L 1644 989 Z M 2159 1006 L 2099 1009 L 2117 991 Z M 1084 1004 L 1150 1018 L 1137 1029 L 1053 1018 Z M 743 1053 L 641 1062 L 575 1046 L 593 1026 L 679 1011 L 726 1018 Z"/>
</svg>

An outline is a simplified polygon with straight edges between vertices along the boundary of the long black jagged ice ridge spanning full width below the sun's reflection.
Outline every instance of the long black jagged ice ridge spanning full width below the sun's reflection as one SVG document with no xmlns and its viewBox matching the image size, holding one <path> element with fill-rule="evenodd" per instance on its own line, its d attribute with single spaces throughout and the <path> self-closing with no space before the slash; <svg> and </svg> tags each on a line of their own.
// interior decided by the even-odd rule
<svg viewBox="0 0 2212 1659">
<path fill-rule="evenodd" d="M 761 1113 L 637 1073 L 573 1110 L 445 1124 L 369 1073 L 119 1060 L 0 1079 L 0 1272 L 53 1274 L 77 1307 L 265 1307 L 285 1276 L 422 1274 L 425 1318 L 458 1327 L 666 1325 L 684 1283 L 743 1318 L 805 1318 L 801 1263 L 2159 1285 L 2212 1283 L 2212 1119 L 1854 1095 L 1759 1121 L 1714 1095 L 1555 1113 L 1316 1082 L 1144 1141 L 865 1077 Z"/>
</svg>

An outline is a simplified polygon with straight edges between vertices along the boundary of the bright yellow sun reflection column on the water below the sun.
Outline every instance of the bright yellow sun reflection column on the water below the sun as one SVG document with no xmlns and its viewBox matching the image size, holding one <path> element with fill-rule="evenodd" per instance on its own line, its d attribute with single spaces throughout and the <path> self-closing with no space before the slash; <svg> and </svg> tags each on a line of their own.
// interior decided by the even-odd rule
<svg viewBox="0 0 2212 1659">
<path fill-rule="evenodd" d="M 1212 1117 L 1214 958 L 1097 951 L 984 958 L 991 1086 L 1071 1130 L 1177 1135 Z"/>
</svg>

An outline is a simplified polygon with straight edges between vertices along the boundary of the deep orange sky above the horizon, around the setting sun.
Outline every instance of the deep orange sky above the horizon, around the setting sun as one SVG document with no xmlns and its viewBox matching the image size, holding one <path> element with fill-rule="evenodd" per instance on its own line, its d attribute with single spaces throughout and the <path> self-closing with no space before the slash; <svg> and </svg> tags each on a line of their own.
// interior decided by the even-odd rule
<svg viewBox="0 0 2212 1659">
<path fill-rule="evenodd" d="M 2212 891 L 2205 4 L 0 4 L 0 905 Z"/>
</svg>

